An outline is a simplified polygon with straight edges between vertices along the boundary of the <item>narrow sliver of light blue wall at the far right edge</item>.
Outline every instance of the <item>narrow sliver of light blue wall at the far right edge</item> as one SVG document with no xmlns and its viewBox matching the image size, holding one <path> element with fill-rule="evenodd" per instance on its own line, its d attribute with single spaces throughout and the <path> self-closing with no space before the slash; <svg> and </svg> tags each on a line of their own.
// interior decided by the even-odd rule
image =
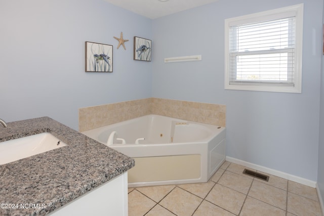
<svg viewBox="0 0 324 216">
<path fill-rule="evenodd" d="M 324 15 L 323 15 L 322 22 L 324 23 Z M 322 200 L 324 200 L 324 64 L 323 62 L 324 62 L 324 56 L 322 56 L 322 65 L 321 65 L 318 174 L 317 174 L 318 175 L 317 184 L 320 190 L 320 196 Z"/>
</svg>

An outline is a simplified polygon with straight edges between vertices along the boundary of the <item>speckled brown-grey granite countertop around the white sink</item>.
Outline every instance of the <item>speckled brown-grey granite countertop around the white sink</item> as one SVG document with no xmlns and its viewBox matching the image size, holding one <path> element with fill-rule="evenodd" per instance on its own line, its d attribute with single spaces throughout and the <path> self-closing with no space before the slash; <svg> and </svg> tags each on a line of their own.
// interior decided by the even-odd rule
<svg viewBox="0 0 324 216">
<path fill-rule="evenodd" d="M 50 117 L 7 125 L 0 125 L 0 142 L 49 132 L 67 146 L 0 165 L 0 204 L 18 204 L 14 209 L 2 205 L 0 215 L 45 215 L 135 165 L 134 159 Z"/>
</svg>

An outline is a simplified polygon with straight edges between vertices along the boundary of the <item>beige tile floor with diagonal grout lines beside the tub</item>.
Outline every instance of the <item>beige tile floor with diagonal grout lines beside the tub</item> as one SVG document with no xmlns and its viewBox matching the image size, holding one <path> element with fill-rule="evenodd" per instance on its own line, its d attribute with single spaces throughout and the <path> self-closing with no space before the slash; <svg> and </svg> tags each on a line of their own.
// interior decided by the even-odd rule
<svg viewBox="0 0 324 216">
<path fill-rule="evenodd" d="M 129 216 L 322 215 L 314 188 L 244 168 L 226 161 L 207 183 L 129 188 Z"/>
</svg>

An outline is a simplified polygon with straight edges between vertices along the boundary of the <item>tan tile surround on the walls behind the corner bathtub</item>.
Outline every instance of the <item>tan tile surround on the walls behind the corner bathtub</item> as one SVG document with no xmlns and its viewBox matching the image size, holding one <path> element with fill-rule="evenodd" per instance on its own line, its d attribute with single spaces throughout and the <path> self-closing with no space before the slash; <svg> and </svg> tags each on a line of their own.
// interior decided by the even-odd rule
<svg viewBox="0 0 324 216">
<path fill-rule="evenodd" d="M 226 106 L 219 104 L 146 98 L 79 108 L 79 132 L 148 114 L 225 126 Z"/>
</svg>

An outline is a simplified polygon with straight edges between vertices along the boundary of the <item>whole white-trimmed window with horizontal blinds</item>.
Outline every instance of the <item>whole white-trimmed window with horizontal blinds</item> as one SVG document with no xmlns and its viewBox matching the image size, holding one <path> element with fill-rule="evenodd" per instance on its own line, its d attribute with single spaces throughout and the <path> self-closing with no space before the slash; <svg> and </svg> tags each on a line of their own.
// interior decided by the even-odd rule
<svg viewBox="0 0 324 216">
<path fill-rule="evenodd" d="M 301 93 L 303 4 L 225 20 L 225 89 Z"/>
</svg>

